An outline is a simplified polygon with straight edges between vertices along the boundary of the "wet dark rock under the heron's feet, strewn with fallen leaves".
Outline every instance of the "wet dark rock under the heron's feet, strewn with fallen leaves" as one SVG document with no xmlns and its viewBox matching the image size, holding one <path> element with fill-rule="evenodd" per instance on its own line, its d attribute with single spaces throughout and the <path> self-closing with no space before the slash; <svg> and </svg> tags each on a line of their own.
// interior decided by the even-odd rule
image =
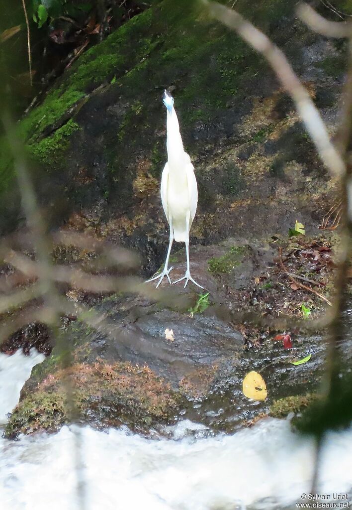
<svg viewBox="0 0 352 510">
<path fill-rule="evenodd" d="M 169 289 L 166 281 L 161 289 L 172 293 L 174 301 L 169 305 L 163 300 L 122 294 L 97 302 L 95 311 L 109 320 L 110 334 L 107 330 L 97 333 L 78 321 L 70 322 L 66 331 L 72 367 L 62 369 L 64 359 L 57 346 L 34 368 L 10 418 L 8 435 L 40 428 L 55 430 L 72 421 L 65 397 L 64 377 L 68 373 L 78 387 L 75 419 L 99 427 L 125 423 L 143 432 L 160 429 L 181 416 L 214 431 L 233 431 L 267 415 L 278 399 L 317 391 L 326 352 L 323 336 L 309 333 L 303 324 L 292 329 L 285 325 L 285 317 L 299 319 L 302 302 L 310 303 L 312 313 L 317 315 L 324 303 L 302 289 L 290 289 L 277 256 L 281 247 L 290 270 L 300 270 L 302 275 L 304 268 L 311 271 L 311 266 L 299 250 L 307 254 L 309 249 L 313 252 L 321 248 L 325 260 L 330 245 L 324 237 L 276 237 L 274 241 L 229 239 L 221 245 L 192 247 L 192 274 L 209 292 L 202 313 L 197 302 L 203 291 L 190 284 L 186 289 L 182 285 Z M 294 253 L 291 258 L 290 253 Z M 291 261 L 301 261 L 301 265 L 293 267 Z M 185 270 L 183 250 L 173 254 L 172 264 L 171 277 L 177 279 Z M 317 277 L 327 278 L 324 281 L 328 288 L 331 272 L 324 267 Z M 155 283 L 146 285 L 153 288 Z M 288 327 L 292 348 L 286 350 L 275 337 Z M 292 365 L 308 353 L 312 355 L 309 363 Z M 349 340 L 344 344 L 344 356 L 346 364 L 350 363 Z M 249 401 L 242 394 L 243 377 L 251 370 L 260 372 L 266 381 L 265 402 Z M 127 393 L 126 377 L 133 378 Z M 100 378 L 104 390 L 99 389 Z M 142 398 L 146 384 L 148 405 Z M 291 400 L 280 405 L 281 413 L 289 408 Z M 55 402 L 61 403 L 52 416 Z M 297 399 L 292 402 L 299 405 Z M 45 411 L 47 405 L 49 414 Z M 34 406 L 41 409 L 42 418 L 33 415 Z"/>
</svg>

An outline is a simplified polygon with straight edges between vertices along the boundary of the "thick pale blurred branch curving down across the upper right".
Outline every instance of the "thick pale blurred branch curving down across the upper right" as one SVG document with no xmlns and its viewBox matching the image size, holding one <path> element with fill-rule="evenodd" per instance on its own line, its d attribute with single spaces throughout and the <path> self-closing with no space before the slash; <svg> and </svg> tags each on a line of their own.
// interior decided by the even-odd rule
<svg viewBox="0 0 352 510">
<path fill-rule="evenodd" d="M 322 121 L 307 90 L 293 71 L 281 49 L 236 11 L 215 2 L 209 2 L 208 0 L 201 1 L 214 18 L 237 32 L 242 39 L 268 61 L 279 81 L 292 97 L 297 112 L 305 123 L 322 162 L 332 175 L 340 177 L 344 175 L 345 163 L 332 144 L 326 125 Z"/>
</svg>

